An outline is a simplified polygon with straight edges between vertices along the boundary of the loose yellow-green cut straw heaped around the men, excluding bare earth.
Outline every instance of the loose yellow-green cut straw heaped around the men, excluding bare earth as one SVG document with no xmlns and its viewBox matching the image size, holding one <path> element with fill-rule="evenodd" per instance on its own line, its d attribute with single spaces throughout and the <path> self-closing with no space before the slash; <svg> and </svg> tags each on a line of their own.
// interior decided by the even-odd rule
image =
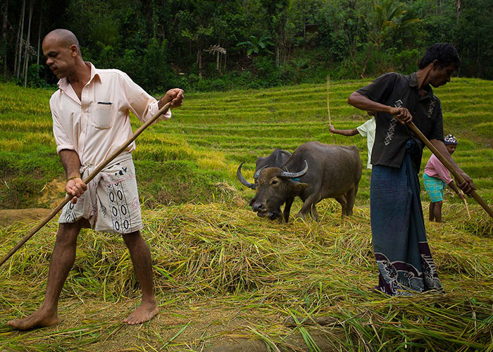
<svg viewBox="0 0 493 352">
<path fill-rule="evenodd" d="M 280 225 L 246 207 L 185 204 L 146 210 L 142 233 L 151 247 L 157 296 L 166 298 L 168 308 L 194 300 L 239 310 L 255 307 L 258 325 L 244 327 L 242 336 L 268 346 L 282 346 L 283 336 L 297 333 L 308 346 L 311 335 L 322 334 L 342 350 L 473 351 L 493 347 L 493 224 L 479 208 L 471 208 L 472 220 L 451 219 L 447 214 L 454 209 L 445 205 L 449 222 L 427 225 L 447 294 L 412 298 L 372 291 L 377 268 L 368 208 L 341 219 L 337 203 L 327 200 L 321 203 L 320 222 Z M 32 225 L 1 228 L 1 253 Z M 55 232 L 51 222 L 0 268 L 3 321 L 42 300 Z M 139 294 L 123 240 L 83 230 L 62 300 L 111 303 Z M 287 320 L 291 324 L 283 324 Z"/>
</svg>

